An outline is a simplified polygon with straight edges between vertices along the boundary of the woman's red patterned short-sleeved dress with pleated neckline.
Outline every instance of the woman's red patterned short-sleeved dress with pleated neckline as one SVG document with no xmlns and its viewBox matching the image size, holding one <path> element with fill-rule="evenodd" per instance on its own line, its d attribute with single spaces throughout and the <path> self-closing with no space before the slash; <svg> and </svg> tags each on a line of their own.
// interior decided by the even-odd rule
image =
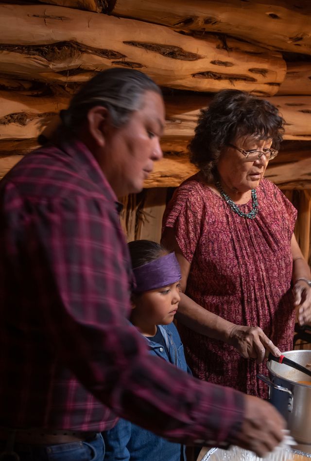
<svg viewBox="0 0 311 461">
<path fill-rule="evenodd" d="M 297 212 L 282 192 L 262 179 L 255 219 L 234 213 L 201 173 L 176 189 L 163 226 L 175 229 L 191 264 L 186 294 L 205 309 L 239 325 L 258 325 L 281 351 L 293 348 L 291 237 Z M 240 205 L 244 213 L 252 200 Z M 265 364 L 242 358 L 235 348 L 178 325 L 187 361 L 200 379 L 267 397 L 256 378 Z"/>
</svg>

